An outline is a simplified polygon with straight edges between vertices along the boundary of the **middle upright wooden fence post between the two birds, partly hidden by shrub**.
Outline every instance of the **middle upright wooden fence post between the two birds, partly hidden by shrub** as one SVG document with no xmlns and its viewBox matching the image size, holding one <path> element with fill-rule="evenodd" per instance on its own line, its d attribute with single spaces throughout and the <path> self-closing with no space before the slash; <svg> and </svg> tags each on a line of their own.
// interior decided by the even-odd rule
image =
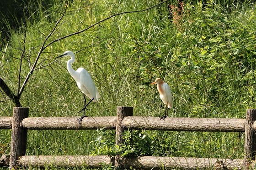
<svg viewBox="0 0 256 170">
<path fill-rule="evenodd" d="M 122 133 L 124 132 L 123 118 L 125 116 L 133 116 L 133 107 L 118 106 L 117 107 L 117 124 L 116 124 L 116 145 L 123 143 Z M 120 156 L 116 155 L 115 169 L 123 169 Z"/>
</svg>

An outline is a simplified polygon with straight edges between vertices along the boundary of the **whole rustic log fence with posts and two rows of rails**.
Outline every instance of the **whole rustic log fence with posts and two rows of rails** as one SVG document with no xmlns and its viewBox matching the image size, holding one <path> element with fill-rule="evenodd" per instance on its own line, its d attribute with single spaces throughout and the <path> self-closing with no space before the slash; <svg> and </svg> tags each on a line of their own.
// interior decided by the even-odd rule
<svg viewBox="0 0 256 170">
<path fill-rule="evenodd" d="M 117 107 L 117 116 L 86 117 L 79 124 L 77 117 L 28 117 L 28 108 L 15 107 L 13 117 L 0 117 L 0 129 L 11 129 L 10 156 L 2 156 L 0 167 L 16 168 L 18 166 L 82 166 L 101 167 L 102 163 L 112 164 L 116 169 L 158 170 L 158 169 L 251 169 L 255 168 L 256 155 L 256 109 L 246 110 L 245 119 L 219 118 L 166 118 L 136 117 L 132 107 Z M 183 158 L 141 156 L 121 158 L 109 156 L 42 156 L 26 155 L 27 130 L 92 130 L 98 128 L 116 129 L 116 145 L 122 141 L 122 132 L 126 128 L 144 130 L 175 131 L 211 131 L 211 132 L 245 132 L 244 159 Z"/>
</svg>

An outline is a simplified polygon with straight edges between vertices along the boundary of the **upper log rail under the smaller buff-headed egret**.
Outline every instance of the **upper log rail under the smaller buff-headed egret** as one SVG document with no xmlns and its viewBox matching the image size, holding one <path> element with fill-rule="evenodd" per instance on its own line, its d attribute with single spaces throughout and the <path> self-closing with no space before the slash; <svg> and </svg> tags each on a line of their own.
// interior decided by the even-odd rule
<svg viewBox="0 0 256 170">
<path fill-rule="evenodd" d="M 214 131 L 243 132 L 245 119 L 218 118 L 173 118 L 129 116 L 123 119 L 123 125 L 130 129 L 176 130 L 176 131 Z"/>
</svg>

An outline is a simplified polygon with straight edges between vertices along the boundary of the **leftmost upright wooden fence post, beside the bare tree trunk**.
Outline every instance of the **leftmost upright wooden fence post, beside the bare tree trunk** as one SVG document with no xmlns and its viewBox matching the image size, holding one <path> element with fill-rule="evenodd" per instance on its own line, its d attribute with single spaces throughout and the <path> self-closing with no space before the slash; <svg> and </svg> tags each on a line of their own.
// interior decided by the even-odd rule
<svg viewBox="0 0 256 170">
<path fill-rule="evenodd" d="M 19 156 L 26 154 L 27 149 L 27 129 L 21 127 L 21 121 L 28 117 L 28 108 L 14 107 L 11 127 L 11 153 L 10 169 L 16 169 Z"/>
</svg>

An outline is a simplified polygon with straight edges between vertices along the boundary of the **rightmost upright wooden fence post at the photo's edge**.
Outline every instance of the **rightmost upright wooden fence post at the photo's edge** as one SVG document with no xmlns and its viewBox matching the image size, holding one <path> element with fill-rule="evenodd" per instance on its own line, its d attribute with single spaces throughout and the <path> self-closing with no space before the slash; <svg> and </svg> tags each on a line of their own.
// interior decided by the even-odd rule
<svg viewBox="0 0 256 170">
<path fill-rule="evenodd" d="M 252 160 L 255 160 L 256 155 L 256 134 L 253 130 L 253 122 L 256 120 L 256 109 L 246 110 L 245 119 L 245 156 L 243 169 L 249 170 Z"/>
</svg>

